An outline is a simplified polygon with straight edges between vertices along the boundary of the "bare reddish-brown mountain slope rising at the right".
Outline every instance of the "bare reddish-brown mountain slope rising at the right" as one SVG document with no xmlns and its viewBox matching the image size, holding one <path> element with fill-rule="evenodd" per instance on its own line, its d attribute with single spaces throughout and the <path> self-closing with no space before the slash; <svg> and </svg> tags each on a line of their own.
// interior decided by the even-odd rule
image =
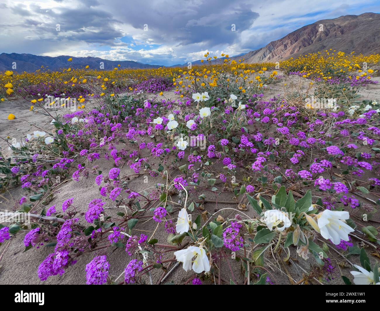
<svg viewBox="0 0 380 311">
<path fill-rule="evenodd" d="M 323 30 L 320 31 L 320 24 Z M 356 54 L 380 53 L 380 14 L 364 13 L 323 19 L 299 28 L 267 46 L 245 55 L 247 63 L 276 62 L 289 57 L 333 49 Z"/>
</svg>

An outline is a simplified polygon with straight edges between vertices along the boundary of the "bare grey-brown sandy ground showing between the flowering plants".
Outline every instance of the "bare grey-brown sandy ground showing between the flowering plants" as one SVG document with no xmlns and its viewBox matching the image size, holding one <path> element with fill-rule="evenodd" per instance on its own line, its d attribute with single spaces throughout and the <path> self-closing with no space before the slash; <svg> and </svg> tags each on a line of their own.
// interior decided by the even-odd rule
<svg viewBox="0 0 380 311">
<path fill-rule="evenodd" d="M 380 81 L 380 77 L 376 77 L 377 81 Z M 275 95 L 283 94 L 283 85 L 287 84 L 287 87 L 291 87 L 291 84 L 301 84 L 302 88 L 306 88 L 309 84 L 309 81 L 297 76 L 289 76 L 284 77 L 283 79 L 279 79 L 275 84 L 272 84 L 269 87 L 269 90 L 265 93 L 266 99 L 269 99 Z M 285 87 L 286 89 L 286 87 Z M 174 94 L 174 92 L 165 92 L 166 98 L 178 99 L 178 96 Z M 361 91 L 361 95 L 363 99 L 380 99 L 380 84 L 377 85 L 369 85 L 365 90 Z M 154 97 L 154 95 L 150 95 Z M 22 102 L 21 102 L 22 104 Z M 28 107 L 28 103 L 25 103 L 25 107 Z M 60 111 L 59 113 L 67 113 Z M 34 123 L 40 129 L 43 129 L 46 132 L 52 128 L 50 125 L 51 117 L 41 117 L 41 115 L 36 114 L 35 112 L 29 111 L 28 108 L 23 108 L 21 106 L 16 106 L 15 104 L 9 104 L 6 102 L 0 102 L 0 136 L 1 137 L 16 137 L 20 139 L 27 133 L 32 133 L 33 126 L 30 126 L 28 122 L 22 120 L 9 121 L 6 119 L 9 113 L 13 113 L 19 119 L 28 120 L 30 123 Z M 8 151 L 8 147 L 4 141 L 0 141 L 0 146 L 2 147 L 5 153 Z M 108 172 L 109 169 L 112 168 L 112 163 L 110 161 L 105 161 L 104 159 L 100 159 L 94 163 L 94 165 L 98 165 L 99 169 L 103 172 Z M 91 167 L 91 166 L 90 166 Z M 129 167 L 124 166 L 121 171 L 121 175 L 128 174 L 130 172 Z M 154 187 L 155 183 L 163 182 L 160 178 L 149 177 L 148 183 L 144 183 L 142 180 L 143 177 L 132 179 L 129 183 L 130 189 L 133 191 L 140 192 L 149 187 Z M 2 193 L 2 197 L 0 197 L 0 209 L 11 210 L 14 205 L 17 205 L 18 200 L 23 195 L 23 190 L 21 187 L 10 189 L 6 193 Z M 49 203 L 49 206 L 56 205 L 57 208 L 62 206 L 64 200 L 69 197 L 75 197 L 76 207 L 81 212 L 86 212 L 88 204 L 94 198 L 100 197 L 99 187 L 95 184 L 94 178 L 90 177 L 88 179 L 81 178 L 79 182 L 69 181 L 64 183 L 62 187 L 60 187 L 55 193 L 53 200 Z M 208 200 L 215 200 L 215 197 L 207 194 L 206 197 Z M 176 198 L 173 197 L 172 200 L 176 202 Z M 219 200 L 230 201 L 231 196 L 229 194 L 223 194 L 219 196 Z M 17 202 L 16 202 L 17 201 Z M 108 200 L 107 202 L 108 208 L 107 213 L 109 215 L 116 215 L 116 212 L 119 211 L 118 208 L 114 208 L 112 205 L 112 201 Z M 48 207 L 49 207 L 48 206 Z M 238 212 L 236 205 L 231 204 L 215 204 L 215 203 L 206 203 L 204 204 L 204 208 L 209 211 L 211 214 L 215 213 L 215 211 L 220 210 L 222 208 L 234 208 L 234 210 L 223 210 L 220 212 L 220 215 L 223 218 L 233 218 L 234 215 Z M 37 213 L 40 212 L 36 211 Z M 152 214 L 152 212 L 147 212 Z M 255 216 L 252 210 L 247 212 L 249 216 Z M 149 215 L 149 214 L 148 214 Z M 176 217 L 178 215 L 178 208 L 174 208 L 174 212 L 171 214 L 173 218 L 173 222 L 176 221 Z M 86 224 L 84 220 L 84 216 L 81 216 L 81 223 Z M 203 223 L 203 221 L 202 221 Z M 152 234 L 156 229 L 157 223 L 153 220 L 148 221 L 146 224 L 142 225 L 140 222 L 133 229 L 133 234 L 139 235 L 141 232 L 144 232 L 148 235 L 148 240 L 152 238 Z M 67 269 L 67 272 L 63 276 L 52 276 L 47 281 L 41 282 L 37 276 L 37 270 L 40 263 L 44 260 L 44 258 L 53 251 L 53 248 L 42 248 L 42 249 L 30 249 L 27 252 L 24 252 L 23 239 L 25 233 L 17 234 L 16 237 L 11 238 L 9 241 L 6 241 L 0 246 L 0 284 L 85 284 L 86 283 L 86 264 L 92 260 L 93 257 L 97 256 L 99 253 L 87 253 L 79 257 L 78 263 L 74 266 Z M 166 241 L 167 234 L 163 229 L 163 226 L 159 226 L 158 229 L 154 233 L 154 237 L 158 238 L 160 242 Z M 184 243 L 188 241 L 184 240 Z M 369 251 L 369 249 L 367 249 Z M 118 279 L 118 281 L 123 280 L 123 271 L 128 262 L 131 260 L 131 257 L 124 251 L 124 249 L 118 248 L 116 251 L 114 248 L 108 248 L 106 251 L 108 254 L 112 253 L 112 256 L 108 256 L 108 260 L 110 263 L 110 277 L 111 279 L 116 279 L 119 275 L 122 276 Z M 266 261 L 266 269 L 268 269 L 269 276 L 271 280 L 275 284 L 291 284 L 292 281 L 297 282 L 302 279 L 305 273 L 310 272 L 310 269 L 316 264 L 314 258 L 310 258 L 305 261 L 301 257 L 297 256 L 296 248 L 293 246 L 290 247 L 291 259 L 293 260 L 290 264 L 284 264 L 283 258 L 286 256 L 285 252 L 282 252 L 277 259 L 274 259 L 270 252 L 267 252 L 265 255 Z M 337 269 L 341 269 L 341 271 L 337 271 L 336 279 L 331 281 L 329 284 L 342 284 L 342 280 L 340 275 L 344 274 L 346 276 L 349 275 L 349 271 L 352 270 L 348 268 L 347 262 L 344 259 L 339 257 L 337 253 L 334 251 L 329 252 L 329 257 L 333 261 L 333 263 L 337 266 Z M 141 255 L 136 255 L 141 256 Z M 171 255 L 168 255 L 171 256 Z M 373 256 L 370 256 L 371 260 L 374 260 Z M 169 257 L 167 257 L 169 258 Z M 167 259 L 166 258 L 166 259 Z M 165 258 L 164 258 L 165 259 Z M 349 260 L 354 264 L 359 263 L 358 256 L 350 256 Z M 228 267 L 227 261 L 223 260 L 220 265 L 220 275 L 223 280 L 230 282 L 230 279 L 235 279 L 236 283 L 242 284 L 244 283 L 244 275 L 242 273 L 242 264 L 239 261 L 230 260 L 231 268 L 233 270 L 233 276 L 231 275 L 230 268 Z M 174 267 L 175 263 L 172 263 L 169 267 L 171 269 Z M 219 273 L 216 270 L 216 273 Z M 152 271 L 152 279 L 154 283 L 158 281 L 162 274 L 162 270 L 153 270 Z M 180 266 L 176 267 L 172 273 L 165 279 L 163 283 L 173 281 L 175 284 L 184 284 L 190 276 L 193 275 L 193 272 L 185 272 Z M 148 278 L 144 278 L 144 280 L 149 283 Z M 215 277 L 215 282 L 218 283 L 218 278 Z M 212 275 L 209 279 L 204 280 L 205 284 L 213 284 L 214 276 Z"/>
</svg>

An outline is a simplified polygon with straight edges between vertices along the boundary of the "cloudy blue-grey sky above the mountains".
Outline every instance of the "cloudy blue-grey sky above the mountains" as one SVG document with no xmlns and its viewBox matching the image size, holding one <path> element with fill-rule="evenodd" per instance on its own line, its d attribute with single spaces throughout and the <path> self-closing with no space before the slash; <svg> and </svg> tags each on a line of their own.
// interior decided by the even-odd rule
<svg viewBox="0 0 380 311">
<path fill-rule="evenodd" d="M 380 12 L 378 0 L 2 0 L 0 53 L 176 65 L 253 51 L 302 26 Z"/>
</svg>

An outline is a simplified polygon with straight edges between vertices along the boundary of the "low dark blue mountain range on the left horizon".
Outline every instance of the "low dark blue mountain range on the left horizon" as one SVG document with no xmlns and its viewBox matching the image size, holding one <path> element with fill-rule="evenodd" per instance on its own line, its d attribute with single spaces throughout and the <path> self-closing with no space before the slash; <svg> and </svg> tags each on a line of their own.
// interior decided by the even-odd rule
<svg viewBox="0 0 380 311">
<path fill-rule="evenodd" d="M 17 54 L 11 53 L 0 54 L 0 71 L 4 70 L 13 70 L 17 72 L 33 72 L 37 69 L 40 69 L 41 66 L 44 66 L 44 69 L 50 70 L 60 70 L 63 68 L 85 68 L 87 65 L 92 69 L 99 69 L 100 63 L 104 63 L 104 69 L 114 69 L 117 65 L 120 65 L 120 68 L 159 68 L 162 66 L 159 65 L 147 65 L 139 62 L 134 62 L 132 60 L 124 60 L 124 61 L 114 61 L 114 60 L 106 60 L 99 57 L 72 57 L 73 62 L 68 62 L 67 60 L 71 56 L 61 55 L 57 57 L 49 57 L 49 56 L 37 56 L 32 54 Z M 16 69 L 13 69 L 12 66 L 16 63 Z"/>
</svg>

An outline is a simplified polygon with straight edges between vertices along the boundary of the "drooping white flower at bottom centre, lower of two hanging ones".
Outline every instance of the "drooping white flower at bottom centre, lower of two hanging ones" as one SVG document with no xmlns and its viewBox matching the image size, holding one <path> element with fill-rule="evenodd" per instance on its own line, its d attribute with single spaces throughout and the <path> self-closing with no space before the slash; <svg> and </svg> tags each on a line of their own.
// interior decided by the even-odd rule
<svg viewBox="0 0 380 311">
<path fill-rule="evenodd" d="M 196 273 L 210 271 L 210 261 L 203 248 L 190 246 L 187 249 L 181 249 L 174 252 L 174 256 L 176 256 L 177 261 L 183 262 L 182 268 L 184 268 L 185 271 L 188 271 L 191 268 L 193 268 Z M 194 256 L 196 257 L 192 266 L 192 259 Z"/>
</svg>

